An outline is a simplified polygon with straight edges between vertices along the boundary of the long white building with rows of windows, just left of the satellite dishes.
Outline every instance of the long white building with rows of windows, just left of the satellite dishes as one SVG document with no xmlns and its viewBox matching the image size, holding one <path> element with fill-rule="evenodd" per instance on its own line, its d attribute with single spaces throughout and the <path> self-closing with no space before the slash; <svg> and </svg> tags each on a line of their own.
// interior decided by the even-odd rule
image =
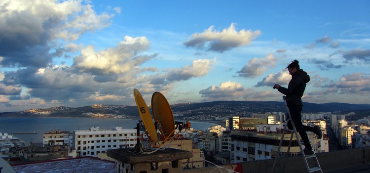
<svg viewBox="0 0 370 173">
<path fill-rule="evenodd" d="M 100 130 L 99 127 L 90 130 L 74 130 L 73 147 L 76 156 L 94 156 L 106 153 L 108 149 L 119 147 L 135 147 L 136 130 L 116 127 L 112 130 Z"/>
</svg>

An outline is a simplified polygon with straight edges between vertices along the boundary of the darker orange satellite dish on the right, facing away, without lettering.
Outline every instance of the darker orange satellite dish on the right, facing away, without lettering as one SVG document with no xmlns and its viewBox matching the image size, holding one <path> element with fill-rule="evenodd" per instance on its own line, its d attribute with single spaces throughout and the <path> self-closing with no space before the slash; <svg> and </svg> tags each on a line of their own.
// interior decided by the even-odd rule
<svg viewBox="0 0 370 173">
<path fill-rule="evenodd" d="M 151 97 L 151 110 L 154 120 L 161 125 L 159 131 L 164 136 L 164 140 L 173 136 L 175 132 L 174 115 L 166 97 L 160 92 L 153 93 Z"/>
</svg>

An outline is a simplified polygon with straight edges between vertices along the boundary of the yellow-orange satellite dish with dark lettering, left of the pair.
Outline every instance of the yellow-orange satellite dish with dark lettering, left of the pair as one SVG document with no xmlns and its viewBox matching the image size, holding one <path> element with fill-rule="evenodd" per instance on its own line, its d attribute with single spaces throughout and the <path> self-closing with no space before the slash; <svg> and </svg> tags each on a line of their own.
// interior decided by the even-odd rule
<svg viewBox="0 0 370 173">
<path fill-rule="evenodd" d="M 153 120 L 151 118 L 149 108 L 145 103 L 145 100 L 138 89 L 134 89 L 134 96 L 136 101 L 136 106 L 138 107 L 138 111 L 140 117 L 143 121 L 145 129 L 148 131 L 149 138 L 154 142 L 158 142 L 157 130 L 154 127 Z M 154 145 L 152 143 L 152 145 Z"/>
</svg>

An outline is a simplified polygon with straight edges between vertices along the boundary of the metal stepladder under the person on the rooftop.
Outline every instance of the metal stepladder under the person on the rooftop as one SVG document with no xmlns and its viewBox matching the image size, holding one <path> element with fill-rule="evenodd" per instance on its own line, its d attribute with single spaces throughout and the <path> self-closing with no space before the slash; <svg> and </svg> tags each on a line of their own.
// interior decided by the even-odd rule
<svg viewBox="0 0 370 173">
<path fill-rule="evenodd" d="M 292 146 L 292 140 L 293 140 L 293 136 L 294 134 L 296 134 L 296 140 L 297 140 L 297 143 L 299 145 L 299 149 L 300 149 L 300 153 L 302 155 L 302 157 L 304 158 L 304 162 L 305 162 L 305 167 L 306 167 L 306 170 L 308 173 L 315 173 L 315 172 L 318 172 L 318 173 L 323 173 L 323 171 L 321 170 L 321 167 L 320 167 L 320 164 L 319 164 L 319 161 L 317 160 L 317 157 L 316 157 L 316 154 L 315 152 L 313 152 L 312 155 L 308 155 L 306 156 L 303 152 L 303 147 L 302 147 L 302 144 L 303 142 L 300 141 L 299 139 L 299 135 L 297 133 L 297 130 L 296 130 L 296 126 L 294 126 L 294 122 L 292 121 L 292 116 L 289 112 L 289 108 L 287 106 L 287 101 L 286 101 L 286 97 L 283 96 L 283 99 L 284 99 L 284 103 L 285 103 L 285 106 L 287 107 L 287 110 L 288 110 L 288 115 L 289 115 L 289 119 L 286 121 L 287 124 L 285 125 L 284 127 L 284 130 L 282 132 L 282 135 L 281 135 L 281 138 L 280 138 L 280 143 L 279 143 L 279 147 L 278 147 L 278 150 L 277 150 L 277 153 L 276 153 L 276 156 L 275 156 L 275 159 L 274 159 L 274 164 L 272 166 L 272 170 L 271 170 L 271 173 L 274 173 L 274 169 L 275 169 L 275 165 L 276 165 L 276 161 L 277 161 L 277 158 L 280 157 L 280 148 L 281 148 L 281 145 L 283 143 L 283 139 L 284 139 L 284 135 L 285 133 L 287 133 L 288 131 L 290 131 L 292 133 L 291 137 L 290 137 L 290 141 L 289 141 L 289 146 L 288 146 L 288 151 L 287 153 L 289 153 L 290 151 L 290 148 Z M 293 126 L 293 130 L 290 130 L 288 129 L 288 122 L 291 121 L 292 123 L 292 126 Z M 314 162 L 315 162 L 315 167 L 311 167 L 309 166 L 308 162 L 307 162 L 307 159 L 313 159 Z M 285 169 L 285 162 L 284 162 L 284 166 L 283 166 L 283 172 L 284 172 L 284 169 Z"/>
</svg>

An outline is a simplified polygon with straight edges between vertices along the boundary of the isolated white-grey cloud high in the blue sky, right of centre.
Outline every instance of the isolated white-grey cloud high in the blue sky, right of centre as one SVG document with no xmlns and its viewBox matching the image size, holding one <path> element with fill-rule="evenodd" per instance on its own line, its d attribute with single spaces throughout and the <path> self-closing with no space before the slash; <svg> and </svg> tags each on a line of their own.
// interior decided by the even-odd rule
<svg viewBox="0 0 370 173">
<path fill-rule="evenodd" d="M 194 33 L 191 35 L 191 39 L 184 44 L 186 47 L 206 48 L 208 51 L 223 52 L 235 47 L 249 45 L 260 34 L 259 30 L 252 32 L 251 30 L 242 29 L 237 32 L 234 23 L 231 23 L 230 27 L 223 29 L 221 32 L 214 30 L 214 26 L 211 26 L 203 33 Z"/>
</svg>

